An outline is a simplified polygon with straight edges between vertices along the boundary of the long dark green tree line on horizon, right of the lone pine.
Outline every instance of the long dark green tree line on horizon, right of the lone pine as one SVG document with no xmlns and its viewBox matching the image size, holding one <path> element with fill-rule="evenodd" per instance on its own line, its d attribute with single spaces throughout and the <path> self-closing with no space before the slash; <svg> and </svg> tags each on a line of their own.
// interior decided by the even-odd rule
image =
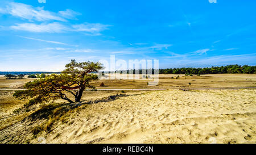
<svg viewBox="0 0 256 155">
<path fill-rule="evenodd" d="M 152 70 L 152 74 L 155 73 L 154 69 Z M 142 74 L 142 72 L 147 73 L 147 70 L 139 69 L 139 70 L 123 70 L 123 71 L 115 71 L 115 72 L 104 72 L 104 73 L 127 73 L 129 74 Z M 256 74 L 256 66 L 249 65 L 228 65 L 228 66 L 212 66 L 211 68 L 167 68 L 167 69 L 159 69 L 159 74 Z"/>
</svg>

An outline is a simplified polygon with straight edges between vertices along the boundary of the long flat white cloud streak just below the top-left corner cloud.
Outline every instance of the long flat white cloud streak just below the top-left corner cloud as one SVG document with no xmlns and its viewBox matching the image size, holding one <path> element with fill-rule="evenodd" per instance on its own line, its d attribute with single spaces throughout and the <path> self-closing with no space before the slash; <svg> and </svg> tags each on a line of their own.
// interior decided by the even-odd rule
<svg viewBox="0 0 256 155">
<path fill-rule="evenodd" d="M 69 31 L 69 28 L 60 23 L 22 23 L 11 26 L 13 30 L 29 31 L 29 32 L 48 32 L 48 33 L 61 33 Z"/>
</svg>

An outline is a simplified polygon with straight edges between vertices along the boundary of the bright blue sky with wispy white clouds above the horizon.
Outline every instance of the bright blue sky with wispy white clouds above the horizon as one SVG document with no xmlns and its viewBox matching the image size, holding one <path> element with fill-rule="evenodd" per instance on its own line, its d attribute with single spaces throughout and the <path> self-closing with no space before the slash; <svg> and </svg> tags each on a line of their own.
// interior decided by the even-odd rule
<svg viewBox="0 0 256 155">
<path fill-rule="evenodd" d="M 160 68 L 256 63 L 256 1 L 4 1 L 0 71 L 158 59 Z"/>
</svg>

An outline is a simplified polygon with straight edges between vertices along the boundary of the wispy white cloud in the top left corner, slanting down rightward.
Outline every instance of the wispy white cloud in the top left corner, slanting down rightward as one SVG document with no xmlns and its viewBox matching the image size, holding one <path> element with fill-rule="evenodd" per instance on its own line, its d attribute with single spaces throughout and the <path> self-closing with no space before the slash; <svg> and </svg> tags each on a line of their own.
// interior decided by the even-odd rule
<svg viewBox="0 0 256 155">
<path fill-rule="evenodd" d="M 1 9 L 3 10 L 3 9 Z M 44 10 L 43 7 L 33 7 L 31 5 L 26 5 L 23 3 L 11 2 L 1 11 L 4 14 L 10 14 L 19 18 L 36 20 L 36 21 L 47 21 L 47 20 L 59 20 L 65 22 L 64 18 L 56 14 L 55 12 Z"/>
</svg>

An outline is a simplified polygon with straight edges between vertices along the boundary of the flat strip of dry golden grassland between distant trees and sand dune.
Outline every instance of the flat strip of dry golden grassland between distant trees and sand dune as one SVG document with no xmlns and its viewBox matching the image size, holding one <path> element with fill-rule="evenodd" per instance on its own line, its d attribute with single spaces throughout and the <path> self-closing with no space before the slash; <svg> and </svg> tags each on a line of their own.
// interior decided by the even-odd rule
<svg viewBox="0 0 256 155">
<path fill-rule="evenodd" d="M 179 78 L 177 78 L 179 76 Z M 172 78 L 174 77 L 174 78 Z M 177 78 L 177 79 L 176 79 Z M 22 88 L 24 83 L 34 79 L 5 79 L 0 77 L 0 89 Z M 158 86 L 148 86 L 153 79 L 102 79 L 93 81 L 97 89 L 148 89 L 172 87 L 256 87 L 256 74 L 209 74 L 201 76 L 185 76 L 176 74 L 160 74 Z M 101 87 L 101 83 L 105 86 Z M 192 85 L 189 85 L 191 83 Z"/>
</svg>

